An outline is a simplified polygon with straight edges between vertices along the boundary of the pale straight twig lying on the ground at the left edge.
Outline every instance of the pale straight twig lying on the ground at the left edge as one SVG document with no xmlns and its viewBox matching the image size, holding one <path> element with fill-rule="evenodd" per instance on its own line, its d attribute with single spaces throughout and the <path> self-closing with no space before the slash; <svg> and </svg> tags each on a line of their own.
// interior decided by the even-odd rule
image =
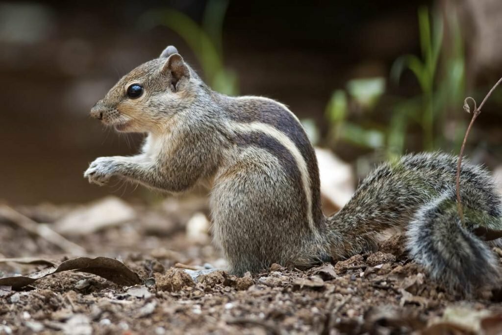
<svg viewBox="0 0 502 335">
<path fill-rule="evenodd" d="M 38 224 L 26 215 L 21 214 L 17 210 L 8 205 L 0 205 L 0 215 L 14 222 L 18 227 L 21 227 L 27 232 L 40 236 L 50 243 L 58 246 L 65 252 L 72 255 L 85 255 L 86 251 L 79 245 L 68 241 L 63 236 L 59 235 L 47 225 Z"/>
</svg>

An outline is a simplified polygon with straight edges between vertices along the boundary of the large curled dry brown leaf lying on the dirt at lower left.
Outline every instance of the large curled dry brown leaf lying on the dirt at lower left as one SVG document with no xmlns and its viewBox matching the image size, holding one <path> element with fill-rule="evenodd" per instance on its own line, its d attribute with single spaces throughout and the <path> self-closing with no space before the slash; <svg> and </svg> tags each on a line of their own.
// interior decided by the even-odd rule
<svg viewBox="0 0 502 335">
<path fill-rule="evenodd" d="M 12 286 L 14 289 L 21 288 L 45 276 L 69 270 L 91 273 L 123 286 L 133 286 L 142 283 L 136 272 L 133 272 L 125 264 L 116 259 L 108 257 L 77 257 L 67 260 L 57 267 L 53 266 L 28 276 L 0 278 L 0 285 Z"/>
</svg>

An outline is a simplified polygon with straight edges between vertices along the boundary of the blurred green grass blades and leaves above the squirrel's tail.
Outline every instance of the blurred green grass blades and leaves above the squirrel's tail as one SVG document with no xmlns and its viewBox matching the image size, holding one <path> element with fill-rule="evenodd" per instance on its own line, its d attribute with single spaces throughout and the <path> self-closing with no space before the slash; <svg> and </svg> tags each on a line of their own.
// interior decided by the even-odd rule
<svg viewBox="0 0 502 335">
<path fill-rule="evenodd" d="M 385 94 L 383 78 L 350 80 L 346 90 L 333 93 L 326 115 L 334 143 L 343 140 L 367 149 L 384 149 L 387 157 L 393 158 L 404 153 L 410 126 L 419 125 L 423 150 L 459 147 L 464 129 L 457 113 L 465 95 L 464 45 L 456 13 L 446 10 L 445 18 L 443 23 L 435 13 L 431 20 L 427 8 L 420 8 L 421 58 L 399 57 L 391 69 L 391 79 L 398 83 L 403 71 L 410 70 L 417 78 L 421 94 L 411 98 Z M 443 40 L 445 33 L 449 37 L 447 41 Z M 390 120 L 385 119 L 385 123 L 360 120 L 357 124 L 350 121 L 352 102 L 356 102 L 359 111 L 371 111 L 381 97 L 384 103 L 378 108 L 388 110 Z M 449 117 L 449 113 L 455 117 Z M 453 133 L 444 131 L 452 129 L 452 124 Z"/>
</svg>

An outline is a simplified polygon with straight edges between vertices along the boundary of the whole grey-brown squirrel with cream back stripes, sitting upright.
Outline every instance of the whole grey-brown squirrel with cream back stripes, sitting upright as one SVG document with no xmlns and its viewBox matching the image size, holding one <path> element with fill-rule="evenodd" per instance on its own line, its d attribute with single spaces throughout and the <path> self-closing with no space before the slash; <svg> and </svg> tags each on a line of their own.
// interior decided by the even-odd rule
<svg viewBox="0 0 502 335">
<path fill-rule="evenodd" d="M 138 155 L 97 158 L 84 177 L 172 193 L 209 183 L 212 235 L 229 273 L 342 260 L 401 231 L 409 255 L 447 288 L 499 284 L 490 246 L 502 243 L 483 234 L 502 230 L 501 197 L 488 172 L 464 162 L 461 220 L 455 156 L 384 163 L 326 217 L 316 156 L 298 118 L 273 99 L 211 90 L 174 46 L 123 76 L 90 114 L 118 132 L 147 136 Z"/>
</svg>

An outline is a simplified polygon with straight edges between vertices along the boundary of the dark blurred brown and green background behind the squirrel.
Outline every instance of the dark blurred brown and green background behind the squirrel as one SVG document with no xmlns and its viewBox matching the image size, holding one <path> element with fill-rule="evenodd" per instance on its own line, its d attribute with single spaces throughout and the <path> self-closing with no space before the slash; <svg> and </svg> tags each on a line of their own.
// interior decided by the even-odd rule
<svg viewBox="0 0 502 335">
<path fill-rule="evenodd" d="M 0 2 L 0 200 L 88 201 L 143 188 L 82 177 L 99 156 L 136 152 L 88 117 L 128 71 L 169 44 L 215 90 L 290 106 L 312 142 L 357 180 L 406 152 L 457 153 L 470 116 L 502 76 L 499 0 Z M 502 162 L 502 88 L 466 154 Z"/>
</svg>

